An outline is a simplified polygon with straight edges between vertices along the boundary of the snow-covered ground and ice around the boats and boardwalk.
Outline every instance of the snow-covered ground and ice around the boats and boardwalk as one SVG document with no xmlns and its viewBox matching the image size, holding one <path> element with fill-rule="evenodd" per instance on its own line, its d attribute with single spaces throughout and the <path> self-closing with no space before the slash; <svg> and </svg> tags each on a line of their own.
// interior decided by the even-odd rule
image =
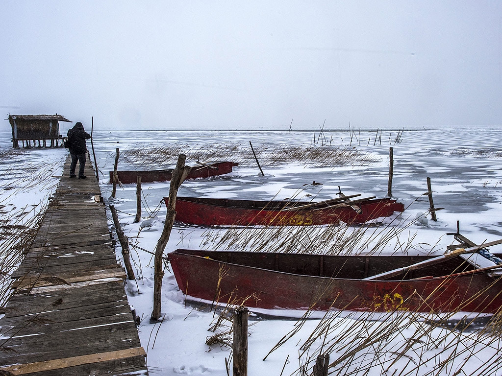
<svg viewBox="0 0 502 376">
<path fill-rule="evenodd" d="M 383 131 L 376 142 L 375 135 L 376 131 L 361 131 L 359 134 L 355 130 L 351 140 L 348 131 L 340 130 L 324 132 L 321 141 L 319 132 L 316 132 L 316 145 L 313 145 L 312 132 L 94 131 L 102 194 L 106 203 L 113 204 L 119 211 L 124 233 L 137 246 L 132 248 L 137 280 L 127 281 L 126 291 L 130 304 L 142 319 L 140 337 L 147 350 L 148 367 L 152 374 L 224 375 L 225 359 L 230 358 L 230 349 L 205 343 L 206 338 L 214 334 L 208 329 L 217 314 L 185 303 L 169 270 L 166 270 L 163 281 L 163 321 L 150 323 L 153 256 L 142 249 L 150 252 L 155 250 L 166 215 L 162 198 L 168 196 L 169 182 L 142 185 L 143 221 L 133 223 L 136 215 L 136 184 L 118 187 L 116 199 L 110 197 L 108 171 L 113 168 L 115 148 L 119 148 L 121 154 L 119 169 L 173 166 L 175 156 L 165 158 L 162 153 L 148 153 L 149 150 L 173 146 L 187 153 L 187 164 L 194 162 L 195 157 L 190 157 L 197 155 L 197 152 L 208 152 L 213 156 L 230 153 L 240 162 L 229 175 L 186 180 L 178 192 L 179 196 L 263 200 L 274 197 L 315 197 L 316 200 L 326 200 L 335 196 L 338 186 L 346 195 L 362 193 L 363 196 L 385 197 L 389 147 L 393 147 L 392 192 L 407 209 L 401 216 L 386 219 L 384 222 L 387 225 L 382 226 L 381 230 L 376 228 L 376 231 L 392 229 L 398 233 L 398 237 L 379 249 L 379 252 L 442 253 L 453 242 L 452 237 L 445 234 L 456 231 L 457 221 L 460 221 L 461 232 L 475 242 L 502 238 L 502 130 L 405 131 L 400 143 L 394 142 L 398 130 Z M 5 152 L 10 147 L 9 134 L 2 136 L 0 150 Z M 253 142 L 265 176 L 261 175 L 249 153 L 249 141 Z M 286 161 L 276 158 L 275 162 L 270 162 L 272 156 L 277 157 L 294 147 L 304 150 L 305 155 L 314 149 L 320 157 L 315 162 L 298 157 L 292 160 L 286 158 Z M 335 164 L 329 158 L 332 157 L 330 150 L 336 147 L 353 150 L 371 163 Z M 90 142 L 88 148 L 91 149 Z M 135 160 L 140 160 L 139 157 L 134 158 L 138 149 L 147 155 L 146 161 L 135 163 Z M 22 180 L 21 176 L 16 177 L 13 167 L 7 166 L 4 160 L 0 165 L 3 168 L 0 180 L 3 188 L 0 191 L 2 205 L 12 204 L 20 208 L 22 205 L 38 205 L 46 200 L 48 192 L 57 183 L 57 178 L 50 176 L 61 174 L 65 151 L 30 149 L 16 152 L 15 158 L 20 156 L 20 159 L 12 159 L 16 166 L 23 160 L 23 163 L 38 166 L 35 168 L 36 173 L 43 172 L 49 177 L 35 185 Z M 12 176 L 5 173 L 9 168 L 13 171 Z M 437 212 L 438 222 L 431 221 L 428 198 L 423 196 L 427 192 L 427 177 L 432 180 L 436 208 L 444 208 Z M 313 181 L 322 184 L 313 185 Z M 11 185 L 16 190 L 6 189 Z M 360 231 L 358 229 L 349 228 L 348 231 Z M 225 231 L 175 223 L 165 252 L 181 247 L 211 248 Z M 374 228 L 371 231 L 375 231 Z M 356 251 L 370 252 L 372 245 L 366 244 L 368 246 L 365 249 Z M 492 250 L 496 251 L 496 248 Z M 325 251 L 329 251 L 329 247 Z M 118 245 L 116 254 L 117 259 L 120 259 Z M 279 314 L 301 316 L 298 312 Z M 460 316 L 457 314 L 455 318 Z M 426 321 L 434 318 L 422 317 L 417 320 L 412 314 L 377 317 L 335 312 L 324 319 L 296 321 L 280 316 L 256 319 L 252 315 L 250 323 L 253 325 L 249 328 L 248 338 L 248 373 L 250 376 L 305 374 L 304 367 L 311 373 L 312 361 L 315 361 L 321 349 L 329 349 L 330 361 L 335 362 L 330 368 L 333 374 L 502 375 L 502 369 L 498 366 L 502 361 L 499 334 L 484 333 L 482 330 L 460 333 L 442 327 L 433 328 Z M 317 339 L 309 341 L 310 337 Z M 284 344 L 266 360 L 262 360 L 284 339 L 287 339 Z M 455 373 L 457 370 L 459 373 Z"/>
</svg>

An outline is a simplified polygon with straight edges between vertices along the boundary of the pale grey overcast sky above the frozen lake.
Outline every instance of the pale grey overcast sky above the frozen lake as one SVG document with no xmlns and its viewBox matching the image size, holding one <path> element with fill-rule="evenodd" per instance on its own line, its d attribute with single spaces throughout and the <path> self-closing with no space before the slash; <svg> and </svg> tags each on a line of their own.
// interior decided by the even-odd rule
<svg viewBox="0 0 502 376">
<path fill-rule="evenodd" d="M 0 113 L 95 129 L 502 124 L 502 2 L 2 0 Z M 2 120 L 2 130 L 10 129 Z"/>
</svg>

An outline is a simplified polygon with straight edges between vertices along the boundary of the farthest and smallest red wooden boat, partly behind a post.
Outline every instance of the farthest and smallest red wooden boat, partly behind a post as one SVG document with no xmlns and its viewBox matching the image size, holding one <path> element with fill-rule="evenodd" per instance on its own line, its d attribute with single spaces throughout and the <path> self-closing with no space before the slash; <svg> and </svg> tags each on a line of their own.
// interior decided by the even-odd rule
<svg viewBox="0 0 502 376">
<path fill-rule="evenodd" d="M 224 161 L 212 163 L 200 163 L 192 167 L 192 170 L 186 177 L 187 179 L 195 179 L 197 177 L 209 177 L 216 175 L 224 175 L 232 172 L 232 167 L 238 166 L 238 163 Z M 117 171 L 118 181 L 124 184 L 135 183 L 138 176 L 141 176 L 142 182 L 153 181 L 169 181 L 174 169 L 164 170 L 122 170 Z M 113 171 L 110 171 L 110 181 L 113 181 Z"/>
</svg>

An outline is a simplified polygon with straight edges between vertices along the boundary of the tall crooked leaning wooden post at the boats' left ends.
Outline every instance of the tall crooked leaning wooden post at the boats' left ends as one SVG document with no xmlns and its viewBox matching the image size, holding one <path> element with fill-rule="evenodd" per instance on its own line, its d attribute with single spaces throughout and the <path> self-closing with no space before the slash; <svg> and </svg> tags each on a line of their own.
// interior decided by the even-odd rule
<svg viewBox="0 0 502 376">
<path fill-rule="evenodd" d="M 164 222 L 164 229 L 162 230 L 162 234 L 157 242 L 157 247 L 155 248 L 154 307 L 152 310 L 152 316 L 150 317 L 150 322 L 157 322 L 160 318 L 162 278 L 164 277 L 164 263 L 162 262 L 162 256 L 164 254 L 164 249 L 167 246 L 167 242 L 169 241 L 169 236 L 171 235 L 174 218 L 176 217 L 176 195 L 178 194 L 178 188 L 192 169 L 190 166 L 185 166 L 185 160 L 186 155 L 180 154 L 178 156 L 178 163 L 176 163 L 176 168 L 174 169 L 171 177 L 171 184 L 169 186 L 169 202 L 167 205 L 166 221 Z"/>
</svg>

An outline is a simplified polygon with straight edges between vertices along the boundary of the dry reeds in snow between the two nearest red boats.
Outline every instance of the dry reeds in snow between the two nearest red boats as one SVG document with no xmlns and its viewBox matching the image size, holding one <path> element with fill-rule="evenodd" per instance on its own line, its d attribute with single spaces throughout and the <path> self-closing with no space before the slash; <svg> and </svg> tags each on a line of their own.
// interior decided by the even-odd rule
<svg viewBox="0 0 502 376">
<path fill-rule="evenodd" d="M 206 230 L 200 247 L 253 252 L 309 253 L 324 255 L 407 253 L 425 243 L 415 242 L 410 227 L 420 218 L 392 220 L 386 225 L 347 224 L 326 226 L 231 226 Z"/>
</svg>

